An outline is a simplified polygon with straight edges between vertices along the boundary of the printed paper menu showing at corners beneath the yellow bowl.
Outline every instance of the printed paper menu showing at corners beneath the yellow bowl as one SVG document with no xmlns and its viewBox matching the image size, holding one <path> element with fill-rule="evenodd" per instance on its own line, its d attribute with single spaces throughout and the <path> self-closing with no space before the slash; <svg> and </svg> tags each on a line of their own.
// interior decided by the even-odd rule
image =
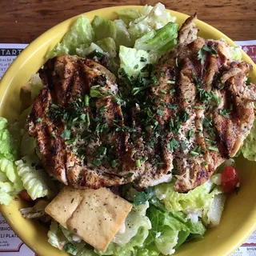
<svg viewBox="0 0 256 256">
<path fill-rule="evenodd" d="M 256 40 L 239 41 L 238 45 L 250 55 L 256 63 Z M 0 44 L 0 78 L 24 49 L 26 44 Z M 19 238 L 0 214 L 0 256 L 36 256 Z M 218 256 L 218 255 L 216 255 Z M 230 256 L 256 256 L 256 231 L 242 246 Z"/>
</svg>

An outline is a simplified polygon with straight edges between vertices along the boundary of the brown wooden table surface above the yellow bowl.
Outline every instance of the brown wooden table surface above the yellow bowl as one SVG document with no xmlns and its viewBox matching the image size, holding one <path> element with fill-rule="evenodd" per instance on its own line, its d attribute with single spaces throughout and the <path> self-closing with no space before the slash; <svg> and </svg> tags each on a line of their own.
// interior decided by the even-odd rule
<svg viewBox="0 0 256 256">
<path fill-rule="evenodd" d="M 0 42 L 30 43 L 50 27 L 107 6 L 154 5 L 152 0 L 0 0 Z M 256 0 L 162 1 L 166 8 L 198 18 L 234 40 L 256 39 Z"/>
</svg>

